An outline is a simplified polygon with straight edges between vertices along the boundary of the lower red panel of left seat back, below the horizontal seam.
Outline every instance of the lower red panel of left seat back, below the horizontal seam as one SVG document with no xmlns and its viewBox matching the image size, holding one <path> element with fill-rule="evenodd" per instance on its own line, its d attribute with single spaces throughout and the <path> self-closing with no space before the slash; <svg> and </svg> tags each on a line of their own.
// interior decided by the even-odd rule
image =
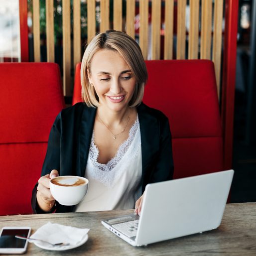
<svg viewBox="0 0 256 256">
<path fill-rule="evenodd" d="M 31 214 L 32 189 L 40 177 L 47 141 L 0 144 L 0 215 Z"/>
</svg>

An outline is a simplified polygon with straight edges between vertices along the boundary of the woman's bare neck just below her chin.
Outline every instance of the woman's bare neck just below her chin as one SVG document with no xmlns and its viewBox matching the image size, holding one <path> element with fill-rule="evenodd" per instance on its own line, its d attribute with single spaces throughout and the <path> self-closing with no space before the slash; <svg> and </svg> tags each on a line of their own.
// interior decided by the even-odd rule
<svg viewBox="0 0 256 256">
<path fill-rule="evenodd" d="M 113 111 L 106 107 L 99 106 L 97 109 L 97 114 L 100 119 L 109 127 L 118 126 L 124 119 L 128 118 L 130 114 L 130 108 L 124 108 L 121 111 Z"/>
</svg>

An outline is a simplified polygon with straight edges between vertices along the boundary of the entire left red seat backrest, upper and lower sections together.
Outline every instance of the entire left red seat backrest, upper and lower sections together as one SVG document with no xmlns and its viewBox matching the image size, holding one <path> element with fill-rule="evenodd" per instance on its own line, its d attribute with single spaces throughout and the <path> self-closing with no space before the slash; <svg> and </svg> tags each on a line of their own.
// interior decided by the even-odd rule
<svg viewBox="0 0 256 256">
<path fill-rule="evenodd" d="M 0 64 L 0 215 L 32 212 L 50 128 L 64 106 L 57 64 Z"/>
</svg>

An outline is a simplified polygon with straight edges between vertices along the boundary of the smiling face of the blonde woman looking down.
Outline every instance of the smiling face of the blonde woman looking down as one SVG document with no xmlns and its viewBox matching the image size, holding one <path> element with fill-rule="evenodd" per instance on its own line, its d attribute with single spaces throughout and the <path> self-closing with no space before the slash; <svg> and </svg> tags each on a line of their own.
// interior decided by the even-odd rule
<svg viewBox="0 0 256 256">
<path fill-rule="evenodd" d="M 105 49 L 96 52 L 90 71 L 87 70 L 89 82 L 95 88 L 100 106 L 113 111 L 128 107 L 135 89 L 135 78 L 117 51 Z"/>
</svg>

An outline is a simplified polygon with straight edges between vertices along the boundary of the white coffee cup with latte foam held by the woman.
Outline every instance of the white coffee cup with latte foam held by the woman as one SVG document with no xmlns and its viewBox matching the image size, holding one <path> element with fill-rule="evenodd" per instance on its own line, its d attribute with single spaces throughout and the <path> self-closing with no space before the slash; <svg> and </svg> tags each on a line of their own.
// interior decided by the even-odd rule
<svg viewBox="0 0 256 256">
<path fill-rule="evenodd" d="M 62 205 L 76 205 L 85 197 L 89 180 L 78 176 L 59 176 L 50 180 L 53 198 Z"/>
</svg>

